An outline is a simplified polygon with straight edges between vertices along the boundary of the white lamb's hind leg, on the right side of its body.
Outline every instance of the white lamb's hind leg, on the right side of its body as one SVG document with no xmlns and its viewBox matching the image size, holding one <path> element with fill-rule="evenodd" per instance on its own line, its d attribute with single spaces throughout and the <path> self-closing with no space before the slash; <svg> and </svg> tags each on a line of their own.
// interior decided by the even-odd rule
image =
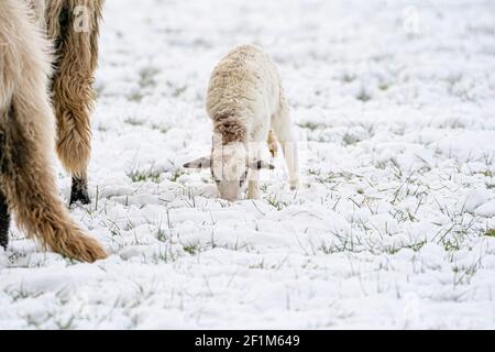
<svg viewBox="0 0 495 352">
<path fill-rule="evenodd" d="M 297 189 L 299 187 L 299 153 L 287 102 L 282 102 L 278 112 L 272 119 L 272 128 L 282 145 L 290 189 Z"/>
</svg>

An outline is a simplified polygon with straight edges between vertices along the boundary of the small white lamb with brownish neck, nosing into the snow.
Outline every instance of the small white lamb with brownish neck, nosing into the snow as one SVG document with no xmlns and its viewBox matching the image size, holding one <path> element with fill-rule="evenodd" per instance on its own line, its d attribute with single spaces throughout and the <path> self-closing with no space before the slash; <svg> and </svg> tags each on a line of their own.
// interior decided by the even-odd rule
<svg viewBox="0 0 495 352">
<path fill-rule="evenodd" d="M 211 168 L 220 197 L 260 198 L 258 172 L 274 166 L 262 158 L 263 146 L 276 154 L 276 139 L 287 163 L 292 189 L 299 185 L 298 152 L 289 107 L 275 64 L 258 47 L 232 50 L 213 69 L 207 95 L 207 112 L 213 122 L 209 156 L 184 165 Z"/>
</svg>

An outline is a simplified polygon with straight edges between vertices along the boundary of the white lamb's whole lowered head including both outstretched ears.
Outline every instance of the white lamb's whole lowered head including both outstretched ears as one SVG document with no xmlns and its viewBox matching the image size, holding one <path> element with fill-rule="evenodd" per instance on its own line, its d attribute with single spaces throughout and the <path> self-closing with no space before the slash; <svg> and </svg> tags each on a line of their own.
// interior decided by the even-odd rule
<svg viewBox="0 0 495 352">
<path fill-rule="evenodd" d="M 215 146 L 211 155 L 184 165 L 185 168 L 211 168 L 220 197 L 235 201 L 241 198 L 252 170 L 273 169 L 274 166 L 261 160 L 251 160 L 243 143 Z"/>
</svg>

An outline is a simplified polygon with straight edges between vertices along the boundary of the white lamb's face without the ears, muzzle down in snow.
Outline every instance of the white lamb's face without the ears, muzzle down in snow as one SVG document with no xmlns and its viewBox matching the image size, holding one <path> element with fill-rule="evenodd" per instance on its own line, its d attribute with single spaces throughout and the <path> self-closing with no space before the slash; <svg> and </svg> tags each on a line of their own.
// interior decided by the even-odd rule
<svg viewBox="0 0 495 352">
<path fill-rule="evenodd" d="M 235 201 L 241 198 L 250 175 L 248 160 L 241 143 L 213 148 L 211 175 L 222 199 Z"/>
</svg>

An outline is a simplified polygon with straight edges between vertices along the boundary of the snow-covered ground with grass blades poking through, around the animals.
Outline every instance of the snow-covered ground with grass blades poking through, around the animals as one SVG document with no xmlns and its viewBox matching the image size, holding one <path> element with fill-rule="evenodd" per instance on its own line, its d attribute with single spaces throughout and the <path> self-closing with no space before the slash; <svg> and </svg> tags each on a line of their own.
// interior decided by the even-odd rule
<svg viewBox="0 0 495 352">
<path fill-rule="evenodd" d="M 72 210 L 111 256 L 0 250 L 6 328 L 495 328 L 495 2 L 108 0 Z M 209 74 L 279 65 L 305 185 L 215 199 Z M 283 170 L 283 161 L 277 165 Z M 58 167 L 61 191 L 69 178 Z"/>
</svg>

